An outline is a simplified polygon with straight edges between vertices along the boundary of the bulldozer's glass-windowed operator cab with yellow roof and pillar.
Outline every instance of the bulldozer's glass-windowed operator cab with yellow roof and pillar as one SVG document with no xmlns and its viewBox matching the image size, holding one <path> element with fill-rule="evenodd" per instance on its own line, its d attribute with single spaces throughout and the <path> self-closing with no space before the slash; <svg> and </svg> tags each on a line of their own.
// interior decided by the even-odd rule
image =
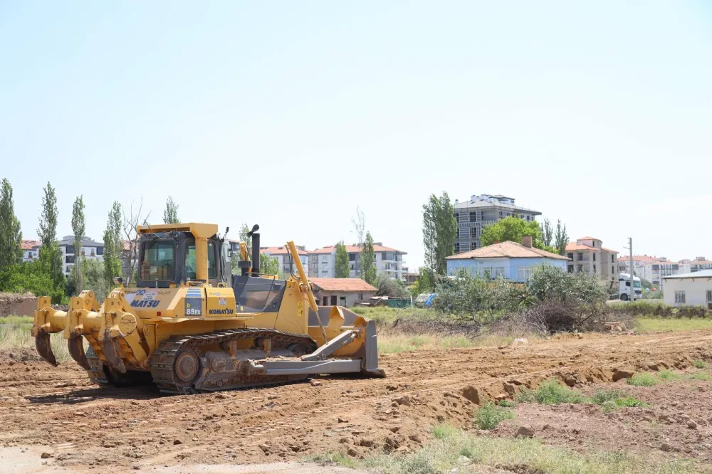
<svg viewBox="0 0 712 474">
<path fill-rule="evenodd" d="M 139 226 L 138 288 L 174 288 L 191 281 L 229 284 L 224 240 L 210 224 Z"/>
</svg>

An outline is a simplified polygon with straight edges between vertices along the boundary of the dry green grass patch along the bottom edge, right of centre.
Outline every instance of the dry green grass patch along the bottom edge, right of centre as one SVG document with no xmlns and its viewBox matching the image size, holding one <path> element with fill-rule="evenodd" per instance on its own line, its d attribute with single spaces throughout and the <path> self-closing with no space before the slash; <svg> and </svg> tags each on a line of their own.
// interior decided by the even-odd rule
<svg viewBox="0 0 712 474">
<path fill-rule="evenodd" d="M 436 427 L 440 433 L 421 450 L 403 456 L 381 453 L 363 460 L 329 455 L 335 463 L 389 474 L 441 474 L 476 472 L 479 467 L 497 466 L 512 472 L 548 474 L 688 474 L 699 472 L 693 460 L 658 460 L 621 451 L 577 453 L 568 448 L 547 446 L 536 438 L 474 436 L 452 427 Z M 473 468 L 463 468 L 460 456 Z M 315 459 L 315 458 L 312 458 Z M 324 457 L 320 458 L 323 460 Z"/>
</svg>

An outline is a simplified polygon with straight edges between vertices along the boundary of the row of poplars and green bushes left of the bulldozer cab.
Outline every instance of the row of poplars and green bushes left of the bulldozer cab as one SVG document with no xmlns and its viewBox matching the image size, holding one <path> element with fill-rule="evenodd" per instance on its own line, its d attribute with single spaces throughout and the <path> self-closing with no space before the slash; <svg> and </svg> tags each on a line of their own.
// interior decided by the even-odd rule
<svg viewBox="0 0 712 474">
<path fill-rule="evenodd" d="M 23 261 L 22 231 L 15 214 L 13 189 L 6 178 L 0 187 L 0 292 L 47 295 L 54 304 L 67 304 L 69 297 L 83 290 L 93 290 L 98 300 L 103 300 L 115 288 L 116 277 L 122 276 L 127 285 L 135 280 L 139 240 L 136 227 L 146 223 L 150 215 L 142 214 L 142 201 L 138 206 L 132 203 L 127 210 L 118 201 L 113 202 L 103 233 L 101 261 L 85 258 L 83 253 L 87 238 L 85 204 L 83 195 L 77 196 L 71 214 L 74 260 L 65 262 L 63 258 L 67 256 L 63 256 L 57 236 L 56 190 L 48 181 L 43 188 L 37 228 L 39 256 Z M 179 223 L 177 211 L 177 204 L 169 196 L 164 223 Z M 69 275 L 63 270 L 65 263 L 73 263 Z"/>
</svg>

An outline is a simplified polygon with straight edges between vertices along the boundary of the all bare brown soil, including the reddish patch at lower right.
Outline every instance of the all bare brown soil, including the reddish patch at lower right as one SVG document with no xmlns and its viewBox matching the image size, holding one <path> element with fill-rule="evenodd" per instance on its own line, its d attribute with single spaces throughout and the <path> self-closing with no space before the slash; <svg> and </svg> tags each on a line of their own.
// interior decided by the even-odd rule
<svg viewBox="0 0 712 474">
<path fill-rule="evenodd" d="M 148 387 L 98 389 L 73 362 L 51 367 L 29 349 L 4 351 L 0 446 L 6 449 L 0 455 L 14 452 L 9 448 L 46 453 L 46 466 L 72 472 L 275 463 L 345 450 L 355 457 L 399 455 L 428 443 L 439 423 L 476 429 L 478 402 L 512 398 L 520 386 L 555 376 L 587 393 L 625 389 L 649 407 L 603 414 L 592 405 L 519 404 L 517 418 L 493 433 L 514 436 L 525 425 L 548 443 L 576 450 L 685 456 L 712 468 L 712 381 L 613 382 L 621 371 L 642 370 L 639 365 L 692 370 L 695 360 L 712 361 L 711 342 L 711 331 L 567 335 L 501 349 L 403 352 L 381 357 L 386 379 L 323 377 L 194 396 L 159 396 Z"/>
</svg>

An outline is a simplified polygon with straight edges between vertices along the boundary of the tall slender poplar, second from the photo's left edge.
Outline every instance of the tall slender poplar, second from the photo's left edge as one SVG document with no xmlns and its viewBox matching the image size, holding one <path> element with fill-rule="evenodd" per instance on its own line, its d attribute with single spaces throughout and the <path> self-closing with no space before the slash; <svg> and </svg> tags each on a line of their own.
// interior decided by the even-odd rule
<svg viewBox="0 0 712 474">
<path fill-rule="evenodd" d="M 43 191 L 42 214 L 39 219 L 39 228 L 37 229 L 37 234 L 42 241 L 40 262 L 42 268 L 49 274 L 54 283 L 53 294 L 58 295 L 53 298 L 52 302 L 59 304 L 64 296 L 66 278 L 63 272 L 62 252 L 57 241 L 57 221 L 59 216 L 57 196 L 49 181 Z"/>
</svg>

